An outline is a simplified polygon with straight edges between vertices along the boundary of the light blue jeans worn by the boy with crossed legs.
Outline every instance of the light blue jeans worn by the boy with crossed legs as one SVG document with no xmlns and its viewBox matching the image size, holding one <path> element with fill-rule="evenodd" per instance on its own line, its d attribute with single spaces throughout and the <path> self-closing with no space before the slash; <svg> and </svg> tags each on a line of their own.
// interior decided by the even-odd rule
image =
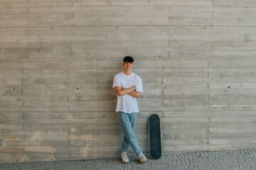
<svg viewBox="0 0 256 170">
<path fill-rule="evenodd" d="M 117 113 L 119 114 L 122 131 L 124 132 L 124 140 L 122 142 L 121 152 L 127 152 L 129 145 L 131 145 L 136 154 L 141 154 L 142 148 L 139 147 L 139 142 L 134 134 L 137 113 Z"/>
</svg>

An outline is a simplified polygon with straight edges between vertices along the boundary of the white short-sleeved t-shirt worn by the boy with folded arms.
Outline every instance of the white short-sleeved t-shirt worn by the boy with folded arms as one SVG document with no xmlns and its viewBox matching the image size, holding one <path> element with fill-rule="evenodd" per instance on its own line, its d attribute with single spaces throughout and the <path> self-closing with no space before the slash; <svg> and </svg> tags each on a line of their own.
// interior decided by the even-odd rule
<svg viewBox="0 0 256 170">
<path fill-rule="evenodd" d="M 135 73 L 132 72 L 129 76 L 124 72 L 119 72 L 114 76 L 113 88 L 115 86 L 123 86 L 125 89 L 129 89 L 132 86 L 136 87 L 136 91 L 143 92 L 142 79 Z M 124 113 L 138 113 L 137 98 L 125 94 L 123 96 L 117 95 L 117 108 L 116 112 L 122 111 Z"/>
</svg>

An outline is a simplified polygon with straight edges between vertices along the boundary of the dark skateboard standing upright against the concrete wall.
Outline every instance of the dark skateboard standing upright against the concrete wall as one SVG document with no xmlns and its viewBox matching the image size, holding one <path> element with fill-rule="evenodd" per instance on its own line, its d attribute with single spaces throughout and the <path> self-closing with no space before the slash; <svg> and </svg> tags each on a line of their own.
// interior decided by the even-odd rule
<svg viewBox="0 0 256 170">
<path fill-rule="evenodd" d="M 161 157 L 160 118 L 156 114 L 152 114 L 149 117 L 149 148 L 152 159 Z"/>
</svg>

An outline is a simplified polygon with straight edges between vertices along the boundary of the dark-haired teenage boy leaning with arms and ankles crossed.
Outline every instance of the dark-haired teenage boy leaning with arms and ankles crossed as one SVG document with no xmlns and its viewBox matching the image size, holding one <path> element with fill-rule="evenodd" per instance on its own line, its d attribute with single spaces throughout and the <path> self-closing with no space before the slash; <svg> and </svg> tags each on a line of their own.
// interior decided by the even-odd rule
<svg viewBox="0 0 256 170">
<path fill-rule="evenodd" d="M 146 162 L 146 157 L 142 153 L 139 142 L 134 134 L 134 127 L 139 112 L 137 98 L 139 98 L 142 89 L 142 79 L 132 72 L 134 59 L 130 56 L 124 57 L 124 70 L 114 76 L 113 88 L 117 91 L 117 108 L 119 114 L 124 139 L 122 142 L 122 163 L 128 163 L 127 149 L 132 146 L 134 152 L 138 155 L 141 163 Z"/>
</svg>

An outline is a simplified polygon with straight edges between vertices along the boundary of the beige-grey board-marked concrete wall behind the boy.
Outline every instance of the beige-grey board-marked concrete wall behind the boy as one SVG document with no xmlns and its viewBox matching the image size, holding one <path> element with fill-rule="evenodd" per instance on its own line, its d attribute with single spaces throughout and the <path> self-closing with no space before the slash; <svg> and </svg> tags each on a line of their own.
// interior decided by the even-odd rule
<svg viewBox="0 0 256 170">
<path fill-rule="evenodd" d="M 151 113 L 164 153 L 256 147 L 255 18 L 255 1 L 0 0 L 0 162 L 119 157 L 126 55 L 145 153 Z"/>
</svg>

